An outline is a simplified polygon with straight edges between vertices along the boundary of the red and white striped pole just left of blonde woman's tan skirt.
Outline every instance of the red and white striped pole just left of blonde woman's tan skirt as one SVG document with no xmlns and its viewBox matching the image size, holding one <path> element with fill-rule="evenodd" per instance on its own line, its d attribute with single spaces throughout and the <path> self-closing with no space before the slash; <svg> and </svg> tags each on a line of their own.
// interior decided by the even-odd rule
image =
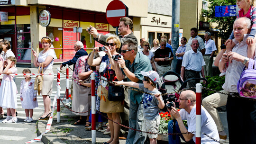
<svg viewBox="0 0 256 144">
<path fill-rule="evenodd" d="M 91 73 L 91 144 L 96 144 L 95 73 Z"/>
</svg>

